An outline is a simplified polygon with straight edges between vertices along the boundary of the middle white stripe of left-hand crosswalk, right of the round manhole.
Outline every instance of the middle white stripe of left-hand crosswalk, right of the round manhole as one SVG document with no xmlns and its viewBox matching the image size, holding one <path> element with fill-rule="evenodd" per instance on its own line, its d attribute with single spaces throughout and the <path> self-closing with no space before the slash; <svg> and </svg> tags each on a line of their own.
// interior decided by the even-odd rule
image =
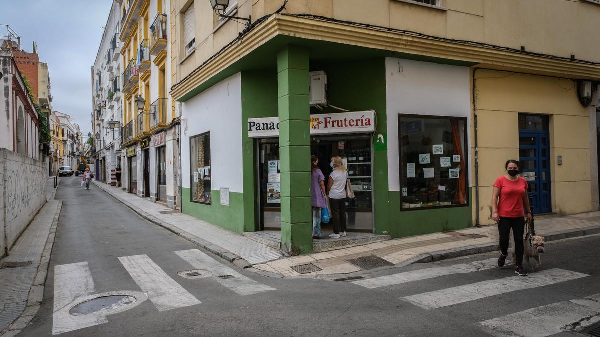
<svg viewBox="0 0 600 337">
<path fill-rule="evenodd" d="M 148 298 L 158 310 L 164 311 L 202 303 L 167 275 L 148 255 L 124 256 L 119 257 L 119 260 L 140 288 L 148 293 Z"/>
</svg>

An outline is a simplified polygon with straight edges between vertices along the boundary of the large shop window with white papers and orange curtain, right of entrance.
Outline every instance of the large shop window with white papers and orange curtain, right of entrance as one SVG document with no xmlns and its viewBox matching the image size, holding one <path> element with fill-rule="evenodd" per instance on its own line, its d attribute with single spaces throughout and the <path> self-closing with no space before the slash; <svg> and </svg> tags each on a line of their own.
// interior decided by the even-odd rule
<svg viewBox="0 0 600 337">
<path fill-rule="evenodd" d="M 398 119 L 402 209 L 468 204 L 466 118 Z"/>
</svg>

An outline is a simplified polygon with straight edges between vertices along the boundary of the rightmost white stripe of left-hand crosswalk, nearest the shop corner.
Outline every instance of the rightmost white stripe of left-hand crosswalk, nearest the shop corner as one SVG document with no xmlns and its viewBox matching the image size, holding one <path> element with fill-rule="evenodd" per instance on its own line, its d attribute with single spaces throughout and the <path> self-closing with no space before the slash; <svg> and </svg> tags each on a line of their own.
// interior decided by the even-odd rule
<svg viewBox="0 0 600 337">
<path fill-rule="evenodd" d="M 214 258 L 209 257 L 198 249 L 176 251 L 184 260 L 188 261 L 194 268 L 208 270 L 217 281 L 227 288 L 241 295 L 251 295 L 263 291 L 277 290 L 268 285 L 254 281 L 253 279 L 236 272 L 234 269 L 224 266 Z M 232 278 L 220 278 L 218 276 L 232 275 Z"/>
</svg>

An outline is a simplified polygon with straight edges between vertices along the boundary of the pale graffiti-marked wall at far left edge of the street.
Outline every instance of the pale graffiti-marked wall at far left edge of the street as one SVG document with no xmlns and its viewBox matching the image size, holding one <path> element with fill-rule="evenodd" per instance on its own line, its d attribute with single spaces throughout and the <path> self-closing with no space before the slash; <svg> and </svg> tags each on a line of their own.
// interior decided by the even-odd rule
<svg viewBox="0 0 600 337">
<path fill-rule="evenodd" d="M 0 163 L 2 257 L 46 203 L 47 173 L 43 161 L 7 149 L 0 149 Z"/>
</svg>

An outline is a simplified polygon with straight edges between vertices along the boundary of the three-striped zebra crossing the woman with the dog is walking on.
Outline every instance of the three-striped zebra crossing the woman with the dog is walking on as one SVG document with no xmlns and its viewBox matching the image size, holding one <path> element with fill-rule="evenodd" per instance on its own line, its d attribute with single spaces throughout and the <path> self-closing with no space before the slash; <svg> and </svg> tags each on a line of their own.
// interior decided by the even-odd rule
<svg viewBox="0 0 600 337">
<path fill-rule="evenodd" d="M 385 287 L 391 285 L 496 268 L 496 261 L 496 258 L 488 258 L 458 263 L 452 266 L 429 267 L 359 279 L 352 281 L 352 283 L 369 289 L 382 288 L 385 291 Z M 586 278 L 587 276 L 590 275 L 572 270 L 551 268 L 530 273 L 527 277 L 509 276 L 472 282 L 455 287 L 411 294 L 400 297 L 400 300 L 431 311 L 458 303 L 484 299 L 489 296 L 559 284 L 560 282 Z M 476 322 L 475 329 L 493 336 L 548 336 L 582 329 L 598 321 L 600 321 L 600 293 L 489 318 Z"/>
</svg>

